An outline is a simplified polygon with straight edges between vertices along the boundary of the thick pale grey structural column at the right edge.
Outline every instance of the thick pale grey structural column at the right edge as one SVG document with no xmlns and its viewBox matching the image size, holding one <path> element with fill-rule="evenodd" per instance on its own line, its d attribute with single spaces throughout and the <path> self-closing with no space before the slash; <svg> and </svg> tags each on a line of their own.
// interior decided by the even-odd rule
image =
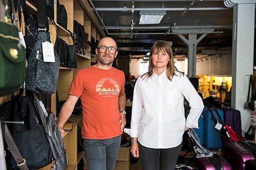
<svg viewBox="0 0 256 170">
<path fill-rule="evenodd" d="M 255 0 L 225 0 L 233 8 L 232 90 L 231 107 L 240 110 L 242 131 L 250 126 L 250 110 L 244 109 L 247 101 L 249 76 L 253 74 Z"/>
</svg>

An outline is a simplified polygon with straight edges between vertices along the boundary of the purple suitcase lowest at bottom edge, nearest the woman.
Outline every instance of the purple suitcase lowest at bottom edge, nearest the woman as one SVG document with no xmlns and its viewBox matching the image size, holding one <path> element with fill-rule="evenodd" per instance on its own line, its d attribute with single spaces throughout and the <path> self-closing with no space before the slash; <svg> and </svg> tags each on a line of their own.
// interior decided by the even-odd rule
<svg viewBox="0 0 256 170">
<path fill-rule="evenodd" d="M 197 170 L 232 170 L 231 164 L 217 154 L 212 157 L 196 158 L 194 167 Z"/>
</svg>

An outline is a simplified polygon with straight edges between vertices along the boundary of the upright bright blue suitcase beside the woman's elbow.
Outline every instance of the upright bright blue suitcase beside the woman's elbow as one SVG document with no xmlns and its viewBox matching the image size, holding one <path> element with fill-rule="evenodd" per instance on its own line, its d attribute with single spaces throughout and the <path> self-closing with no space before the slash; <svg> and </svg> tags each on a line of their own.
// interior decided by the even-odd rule
<svg viewBox="0 0 256 170">
<path fill-rule="evenodd" d="M 217 116 L 217 113 L 215 112 L 215 110 L 212 108 L 211 110 L 212 110 L 212 113 L 214 114 L 214 117 L 217 120 L 219 120 L 219 117 Z M 218 113 L 220 117 L 223 119 L 223 111 L 218 110 Z M 212 119 L 212 115 L 208 107 L 204 107 L 202 115 L 204 119 L 204 130 L 203 130 L 204 146 L 207 149 L 222 149 L 223 144 L 222 144 L 221 133 L 218 129 L 215 128 L 216 123 Z"/>
</svg>

